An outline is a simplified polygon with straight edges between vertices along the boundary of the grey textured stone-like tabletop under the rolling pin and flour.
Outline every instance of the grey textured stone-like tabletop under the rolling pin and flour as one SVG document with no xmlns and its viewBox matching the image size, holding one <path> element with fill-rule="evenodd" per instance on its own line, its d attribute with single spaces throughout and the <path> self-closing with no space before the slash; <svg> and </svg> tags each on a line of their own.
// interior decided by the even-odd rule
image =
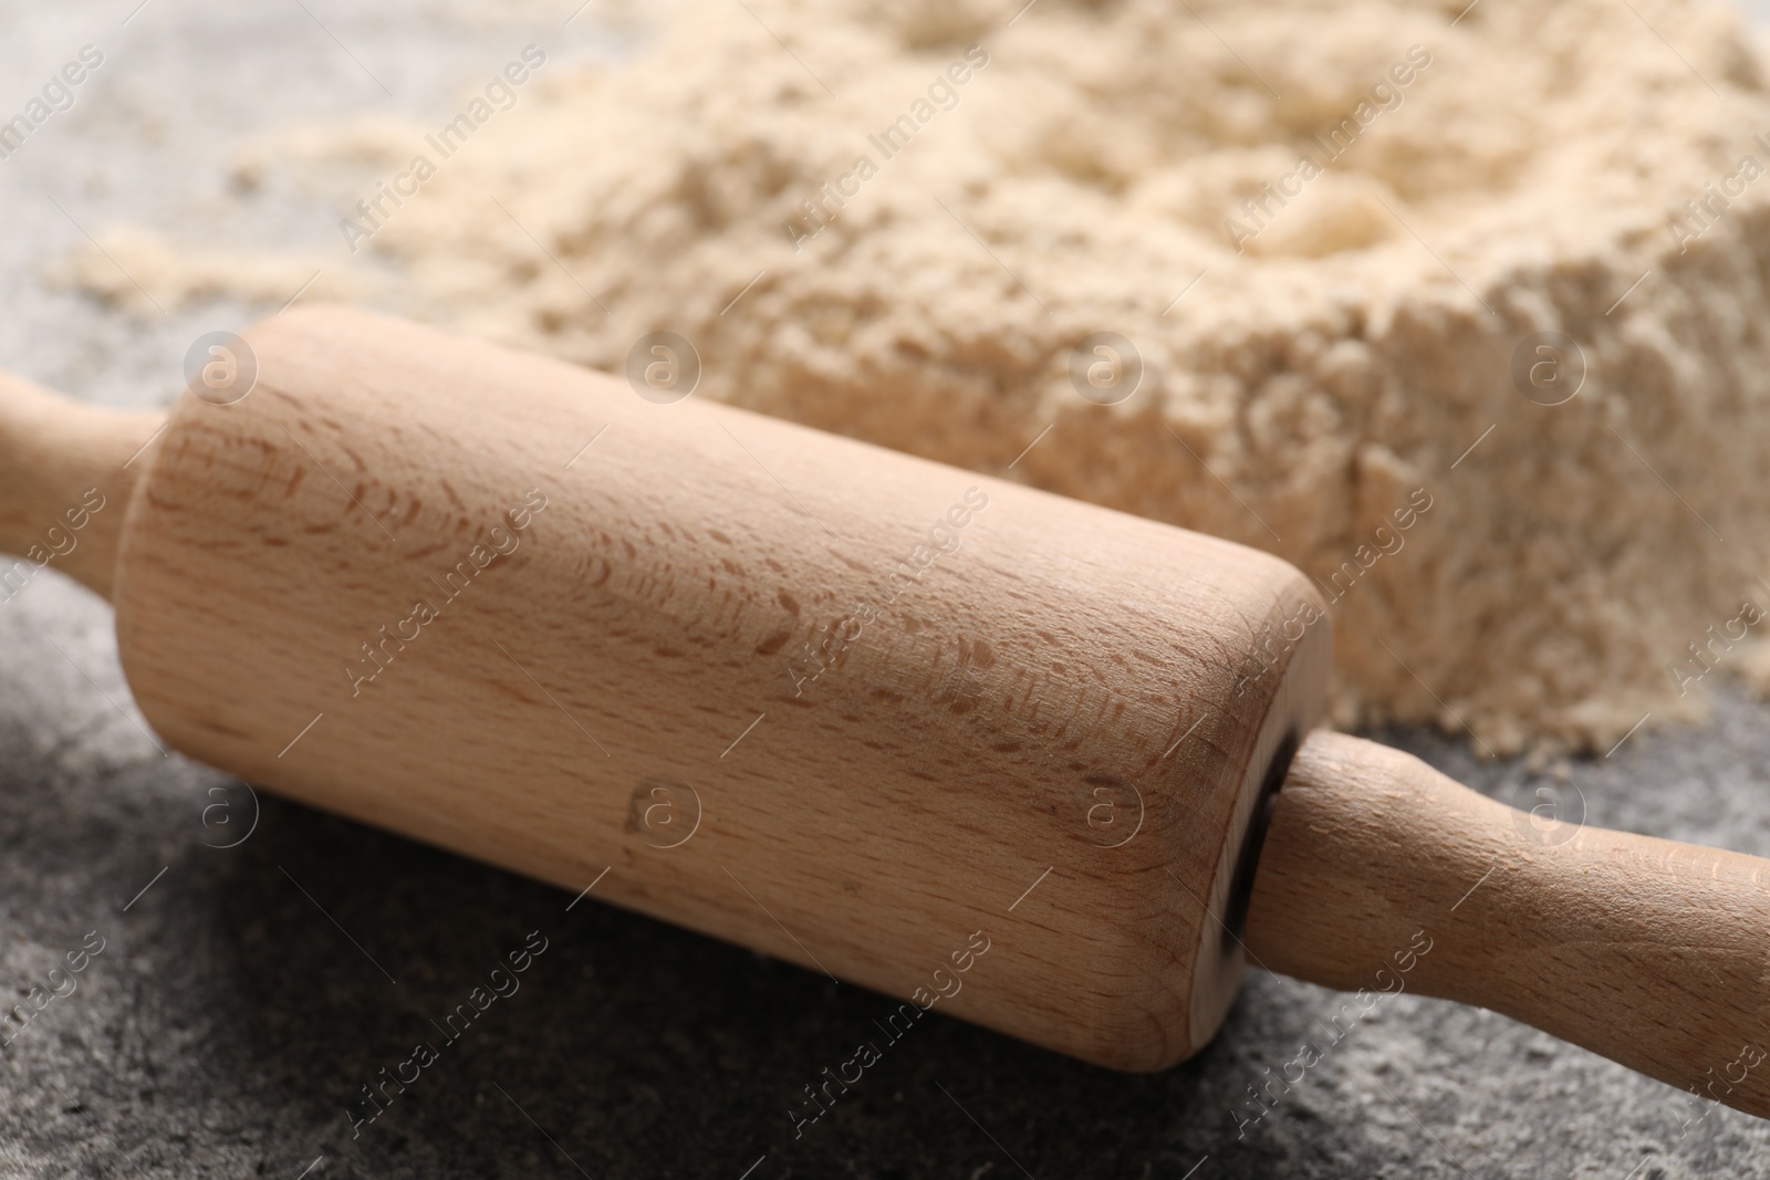
<svg viewBox="0 0 1770 1180">
<path fill-rule="evenodd" d="M 0 108 L 21 108 L 81 44 L 106 53 L 74 110 L 0 161 L 0 363 L 117 405 L 163 402 L 191 340 L 274 308 L 103 308 L 51 278 L 87 232 L 138 223 L 216 248 L 336 249 L 320 196 L 227 193 L 242 136 L 308 117 L 430 115 L 529 41 L 559 58 L 609 51 L 595 14 L 563 27 L 575 4 L 497 16 L 467 0 L 135 7 L 0 4 Z M 1770 1123 L 1726 1109 L 1690 1123 L 1699 1109 L 1666 1086 L 1405 994 L 1237 1132 L 1246 1088 L 1326 1042 L 1340 1010 L 1331 992 L 1262 973 L 1209 1051 L 1149 1077 L 935 1015 L 795 1138 L 802 1088 L 873 1037 L 883 996 L 595 902 L 568 911 L 558 890 L 255 801 L 161 754 L 110 626 L 101 601 L 53 575 L 0 603 L 0 994 L 48 987 L 88 932 L 103 939 L 73 994 L 0 1028 L 7 1176 L 1770 1171 Z M 1435 736 L 1389 738 L 1499 798 L 1540 784 Z M 1770 854 L 1766 768 L 1770 708 L 1722 699 L 1710 731 L 1635 736 L 1568 775 L 1591 823 Z M 248 839 L 218 847 L 253 819 Z M 529 931 L 547 950 L 520 991 L 352 1136 L 347 1104 L 416 1042 L 442 1042 L 432 1021 Z"/>
</svg>

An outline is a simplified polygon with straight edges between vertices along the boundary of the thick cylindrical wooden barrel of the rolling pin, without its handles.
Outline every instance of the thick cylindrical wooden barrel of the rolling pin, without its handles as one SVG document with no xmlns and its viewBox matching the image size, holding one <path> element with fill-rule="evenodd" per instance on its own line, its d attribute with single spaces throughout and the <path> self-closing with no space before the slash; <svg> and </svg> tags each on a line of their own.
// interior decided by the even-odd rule
<svg viewBox="0 0 1770 1180">
<path fill-rule="evenodd" d="M 166 741 L 1104 1065 L 1212 1035 L 1326 692 L 1296 570 L 365 313 L 246 338 L 258 387 L 179 402 L 117 566 Z"/>
</svg>

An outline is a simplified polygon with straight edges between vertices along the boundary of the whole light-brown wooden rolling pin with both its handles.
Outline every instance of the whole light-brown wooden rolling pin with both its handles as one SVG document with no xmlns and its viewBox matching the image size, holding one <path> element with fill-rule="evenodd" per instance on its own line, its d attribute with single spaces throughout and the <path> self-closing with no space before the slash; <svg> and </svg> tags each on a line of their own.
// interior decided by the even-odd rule
<svg viewBox="0 0 1770 1180">
<path fill-rule="evenodd" d="M 246 340 L 165 419 L 0 382 L 0 548 L 191 757 L 1101 1065 L 1251 959 L 1770 1115 L 1766 862 L 1313 729 L 1283 561 L 358 311 Z"/>
</svg>

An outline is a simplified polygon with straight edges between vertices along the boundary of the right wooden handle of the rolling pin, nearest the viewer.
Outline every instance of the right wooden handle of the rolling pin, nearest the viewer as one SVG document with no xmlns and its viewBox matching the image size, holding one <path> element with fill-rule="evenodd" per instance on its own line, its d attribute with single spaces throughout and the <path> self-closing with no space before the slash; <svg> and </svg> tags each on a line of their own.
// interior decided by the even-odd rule
<svg viewBox="0 0 1770 1180">
<path fill-rule="evenodd" d="M 1545 824 L 1315 732 L 1273 808 L 1246 938 L 1273 971 L 1492 1008 L 1770 1116 L 1766 885 L 1756 856 Z"/>
</svg>

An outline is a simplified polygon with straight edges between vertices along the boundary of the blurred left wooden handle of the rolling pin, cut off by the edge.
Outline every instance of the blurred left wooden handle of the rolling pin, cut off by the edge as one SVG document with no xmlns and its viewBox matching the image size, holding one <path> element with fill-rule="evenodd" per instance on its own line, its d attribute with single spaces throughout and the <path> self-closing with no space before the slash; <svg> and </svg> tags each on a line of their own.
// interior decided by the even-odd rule
<svg viewBox="0 0 1770 1180">
<path fill-rule="evenodd" d="M 106 410 L 0 373 L 0 601 L 32 570 L 110 598 L 124 510 L 165 414 Z"/>
</svg>

